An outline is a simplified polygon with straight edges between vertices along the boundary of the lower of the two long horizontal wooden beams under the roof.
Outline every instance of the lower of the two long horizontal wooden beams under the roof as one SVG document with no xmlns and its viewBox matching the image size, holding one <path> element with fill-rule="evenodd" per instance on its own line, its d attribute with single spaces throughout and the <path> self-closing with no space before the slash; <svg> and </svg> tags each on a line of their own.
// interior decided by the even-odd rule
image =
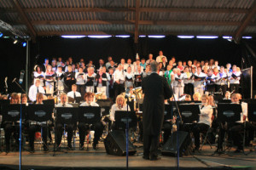
<svg viewBox="0 0 256 170">
<path fill-rule="evenodd" d="M 109 25 L 135 24 L 136 20 L 34 20 L 32 25 Z M 15 24 L 15 23 L 14 23 Z M 240 26 L 240 21 L 176 21 L 176 20 L 138 20 L 138 25 L 156 26 Z"/>
</svg>

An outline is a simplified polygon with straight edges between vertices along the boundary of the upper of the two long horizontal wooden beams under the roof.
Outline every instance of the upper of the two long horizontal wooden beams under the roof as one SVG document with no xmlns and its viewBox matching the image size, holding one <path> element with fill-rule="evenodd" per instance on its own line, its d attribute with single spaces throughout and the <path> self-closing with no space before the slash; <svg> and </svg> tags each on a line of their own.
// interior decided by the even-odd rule
<svg viewBox="0 0 256 170">
<path fill-rule="evenodd" d="M 53 12 L 136 12 L 136 8 L 22 8 L 26 13 L 53 13 Z M 6 8 L 4 13 L 15 13 L 14 8 Z M 140 12 L 149 13 L 237 13 L 247 14 L 246 8 L 140 8 Z M 1 12 L 0 12 L 1 13 Z"/>
</svg>

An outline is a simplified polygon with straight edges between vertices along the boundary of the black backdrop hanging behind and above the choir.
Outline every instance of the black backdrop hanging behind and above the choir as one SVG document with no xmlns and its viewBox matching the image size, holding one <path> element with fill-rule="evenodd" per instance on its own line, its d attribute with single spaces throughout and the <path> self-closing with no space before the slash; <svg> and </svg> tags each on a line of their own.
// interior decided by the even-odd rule
<svg viewBox="0 0 256 170">
<path fill-rule="evenodd" d="M 139 38 L 137 45 L 133 43 L 133 38 L 110 37 L 104 39 L 81 38 L 64 39 L 61 37 L 40 37 L 36 43 L 30 44 L 29 77 L 32 75 L 33 65 L 43 64 L 45 58 L 52 57 L 73 57 L 74 61 L 84 58 L 87 62 L 93 59 L 94 63 L 102 58 L 107 60 L 108 56 L 113 56 L 113 60 L 119 62 L 121 58 L 135 59 L 136 53 L 140 57 L 147 58 L 149 53 L 154 54 L 154 59 L 158 52 L 162 50 L 170 59 L 175 56 L 177 60 L 189 59 L 218 59 L 220 65 L 230 62 L 232 65 L 241 65 L 242 46 L 235 42 L 229 42 L 222 38 L 217 39 L 180 39 L 177 37 L 165 38 Z M 10 39 L 0 39 L 1 51 L 1 73 L 0 90 L 3 92 L 4 78 L 9 77 L 9 93 L 19 91 L 14 83 L 15 77 L 20 77 L 20 70 L 26 68 L 26 48 L 20 44 L 13 44 Z M 29 80 L 31 82 L 31 80 Z M 25 83 L 22 84 L 25 87 Z"/>
</svg>

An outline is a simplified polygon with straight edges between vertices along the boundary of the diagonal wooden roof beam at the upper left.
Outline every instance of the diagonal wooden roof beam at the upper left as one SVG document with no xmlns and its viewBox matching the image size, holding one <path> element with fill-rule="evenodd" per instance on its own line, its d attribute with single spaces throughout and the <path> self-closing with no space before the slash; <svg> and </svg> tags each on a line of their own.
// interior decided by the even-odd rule
<svg viewBox="0 0 256 170">
<path fill-rule="evenodd" d="M 26 17 L 26 14 L 24 13 L 23 9 L 20 6 L 20 3 L 18 2 L 18 0 L 13 0 L 13 3 L 15 5 L 15 8 L 17 9 L 18 13 L 20 14 L 21 20 L 24 21 L 24 23 L 27 27 L 27 30 L 30 32 L 30 34 L 31 34 L 30 36 L 32 37 L 32 40 L 35 40 L 35 38 L 37 37 L 37 32 L 35 31 L 31 22 Z"/>
</svg>

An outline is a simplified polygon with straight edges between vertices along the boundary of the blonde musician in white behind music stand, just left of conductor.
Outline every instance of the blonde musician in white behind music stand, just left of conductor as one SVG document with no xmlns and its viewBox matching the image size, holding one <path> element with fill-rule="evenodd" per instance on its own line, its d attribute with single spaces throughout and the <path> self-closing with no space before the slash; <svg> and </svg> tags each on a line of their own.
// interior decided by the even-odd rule
<svg viewBox="0 0 256 170">
<path fill-rule="evenodd" d="M 128 111 L 131 111 L 130 106 L 126 104 L 125 101 L 125 97 L 123 95 L 118 95 L 116 97 L 116 102 L 115 104 L 112 105 L 111 107 L 111 112 L 110 112 L 110 120 L 113 121 L 112 124 L 112 129 L 116 129 L 115 128 L 115 119 L 114 119 L 114 115 L 115 115 L 115 111 L 127 111 L 127 107 L 128 107 Z"/>
</svg>

